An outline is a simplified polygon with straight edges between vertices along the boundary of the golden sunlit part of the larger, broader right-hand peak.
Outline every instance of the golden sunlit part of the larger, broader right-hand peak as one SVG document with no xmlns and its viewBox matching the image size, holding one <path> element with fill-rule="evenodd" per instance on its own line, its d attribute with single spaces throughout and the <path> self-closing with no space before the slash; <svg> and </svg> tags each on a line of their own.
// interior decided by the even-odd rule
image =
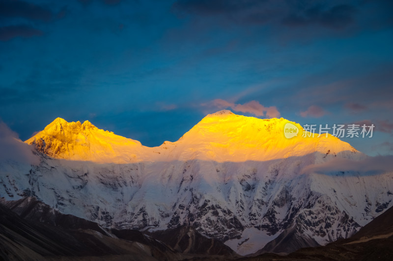
<svg viewBox="0 0 393 261">
<path fill-rule="evenodd" d="M 301 125 L 283 118 L 259 119 L 236 115 L 229 110 L 204 117 L 176 141 L 179 158 L 199 158 L 215 161 L 265 161 L 286 157 L 317 155 L 318 160 L 335 157 L 338 153 L 354 156 L 356 150 L 346 142 L 328 135 L 291 139 L 284 136 L 287 123 Z"/>
</svg>

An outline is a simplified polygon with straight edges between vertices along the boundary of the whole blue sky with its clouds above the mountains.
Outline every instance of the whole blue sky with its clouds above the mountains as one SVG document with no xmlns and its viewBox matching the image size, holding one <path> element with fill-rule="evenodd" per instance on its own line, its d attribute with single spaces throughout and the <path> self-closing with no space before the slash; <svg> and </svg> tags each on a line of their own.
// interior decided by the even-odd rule
<svg viewBox="0 0 393 261">
<path fill-rule="evenodd" d="M 393 154 L 392 13 L 388 0 L 0 0 L 0 118 L 23 140 L 62 117 L 158 146 L 228 108 L 372 123 L 344 140 Z"/>
</svg>

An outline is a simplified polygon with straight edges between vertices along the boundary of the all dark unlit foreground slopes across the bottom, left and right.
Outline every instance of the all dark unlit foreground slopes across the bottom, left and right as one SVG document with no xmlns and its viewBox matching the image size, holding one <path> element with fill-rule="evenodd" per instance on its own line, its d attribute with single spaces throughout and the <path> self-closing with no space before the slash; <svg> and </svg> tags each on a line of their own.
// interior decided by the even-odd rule
<svg viewBox="0 0 393 261">
<path fill-rule="evenodd" d="M 63 215 L 34 198 L 2 202 L 24 218 L 0 204 L 0 260 L 391 261 L 393 258 L 393 208 L 348 239 L 302 248 L 287 256 L 262 254 L 238 259 L 221 242 L 203 237 L 189 227 L 149 233 L 150 236 L 135 230 L 106 231 L 93 222 Z M 41 222 L 36 221 L 39 213 L 43 214 Z M 72 229 L 67 229 L 70 224 Z"/>
</svg>

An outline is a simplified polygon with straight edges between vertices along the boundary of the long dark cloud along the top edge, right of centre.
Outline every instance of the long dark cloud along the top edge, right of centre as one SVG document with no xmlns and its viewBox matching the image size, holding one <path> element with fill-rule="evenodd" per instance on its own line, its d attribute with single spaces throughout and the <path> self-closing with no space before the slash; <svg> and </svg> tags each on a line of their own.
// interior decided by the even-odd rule
<svg viewBox="0 0 393 261">
<path fill-rule="evenodd" d="M 267 24 L 279 26 L 318 25 L 343 28 L 351 24 L 357 8 L 352 4 L 312 0 L 177 0 L 173 9 L 199 16 L 224 17 L 238 24 Z"/>
</svg>

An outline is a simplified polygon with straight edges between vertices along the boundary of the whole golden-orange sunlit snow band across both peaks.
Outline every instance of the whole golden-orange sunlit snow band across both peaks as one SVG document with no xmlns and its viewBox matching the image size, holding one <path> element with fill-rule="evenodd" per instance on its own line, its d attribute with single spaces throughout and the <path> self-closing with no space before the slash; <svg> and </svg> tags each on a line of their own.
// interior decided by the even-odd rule
<svg viewBox="0 0 393 261">
<path fill-rule="evenodd" d="M 332 155 L 357 152 L 351 145 L 332 135 L 292 138 L 284 136 L 283 118 L 258 119 L 222 110 L 204 117 L 176 142 L 145 147 L 139 141 L 100 130 L 90 122 L 66 122 L 57 118 L 44 130 L 26 141 L 51 157 L 88 160 L 100 163 L 138 161 L 208 160 L 242 162 L 265 161 L 312 153 Z M 345 157 L 345 156 L 344 156 Z"/>
</svg>

